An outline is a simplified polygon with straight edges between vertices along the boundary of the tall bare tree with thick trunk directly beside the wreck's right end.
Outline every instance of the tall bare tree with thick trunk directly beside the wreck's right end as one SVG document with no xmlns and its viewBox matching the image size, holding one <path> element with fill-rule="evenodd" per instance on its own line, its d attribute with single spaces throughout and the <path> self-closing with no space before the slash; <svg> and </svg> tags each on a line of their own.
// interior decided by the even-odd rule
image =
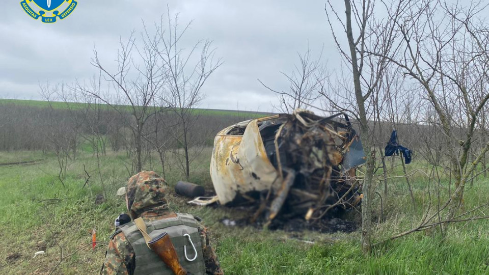
<svg viewBox="0 0 489 275">
<path fill-rule="evenodd" d="M 321 94 L 332 109 L 349 112 L 356 117 L 359 123 L 360 138 L 367 156 L 362 187 L 364 195 L 362 201 L 362 248 L 364 252 L 369 252 L 371 248 L 370 200 L 371 194 L 373 194 L 370 188 L 374 185 L 375 172 L 373 131 L 369 127 L 369 121 L 378 121 L 378 118 L 375 117 L 373 106 L 379 104 L 378 97 L 375 94 L 379 90 L 379 84 L 384 79 L 387 59 L 384 57 L 372 57 L 367 54 L 367 50 L 375 49 L 379 52 L 388 52 L 392 45 L 393 33 L 392 31 L 386 32 L 386 30 L 378 29 L 378 25 L 372 17 L 375 7 L 374 1 L 363 0 L 355 2 L 345 0 L 344 4 L 346 15 L 344 19 L 339 16 L 331 1 L 327 1 L 325 11 L 336 46 L 343 60 L 350 66 L 351 79 L 354 84 L 353 91 L 351 93 L 345 91 L 337 91 L 337 93 L 322 91 Z M 346 33 L 347 49 L 344 49 L 339 42 L 339 37 L 333 27 L 333 20 L 339 22 Z M 356 25 L 354 25 L 355 23 Z M 358 32 L 356 37 L 354 37 L 354 31 Z M 354 111 L 349 110 L 348 106 L 354 107 Z"/>
</svg>

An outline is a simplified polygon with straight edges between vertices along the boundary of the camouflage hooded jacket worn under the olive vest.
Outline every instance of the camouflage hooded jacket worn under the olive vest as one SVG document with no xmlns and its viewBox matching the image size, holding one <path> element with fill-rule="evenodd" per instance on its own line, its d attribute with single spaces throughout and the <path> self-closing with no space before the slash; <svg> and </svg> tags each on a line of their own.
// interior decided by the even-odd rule
<svg viewBox="0 0 489 275">
<path fill-rule="evenodd" d="M 165 198 L 166 183 L 154 172 L 140 172 L 132 176 L 126 187 L 127 209 L 133 219 L 144 217 L 152 221 L 176 216 L 168 208 Z M 223 274 L 209 236 L 204 226 L 199 227 L 203 256 L 207 274 Z M 116 234 L 108 244 L 108 250 L 100 274 L 133 275 L 135 269 L 134 250 L 124 234 Z"/>
</svg>

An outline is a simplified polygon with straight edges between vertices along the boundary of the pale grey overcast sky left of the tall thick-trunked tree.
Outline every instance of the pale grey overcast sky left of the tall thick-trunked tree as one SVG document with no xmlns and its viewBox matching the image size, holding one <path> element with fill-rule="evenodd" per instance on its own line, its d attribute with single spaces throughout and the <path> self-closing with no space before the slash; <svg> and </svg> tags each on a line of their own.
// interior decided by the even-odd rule
<svg viewBox="0 0 489 275">
<path fill-rule="evenodd" d="M 28 16 L 20 0 L 5 0 L 0 17 L 0 98 L 41 99 L 38 82 L 72 82 L 96 73 L 90 60 L 93 47 L 106 62 L 116 59 L 119 37 L 158 21 L 167 11 L 180 22 L 193 20 L 186 33 L 188 46 L 213 41 L 224 64 L 211 75 L 203 92 L 203 108 L 272 111 L 276 95 L 263 88 L 287 88 L 280 71 L 290 72 L 297 52 L 308 44 L 323 48 L 330 70 L 339 64 L 326 21 L 323 0 L 293 1 L 129 1 L 79 0 L 66 19 L 45 24 Z M 341 6 L 340 6 L 341 7 Z"/>
</svg>

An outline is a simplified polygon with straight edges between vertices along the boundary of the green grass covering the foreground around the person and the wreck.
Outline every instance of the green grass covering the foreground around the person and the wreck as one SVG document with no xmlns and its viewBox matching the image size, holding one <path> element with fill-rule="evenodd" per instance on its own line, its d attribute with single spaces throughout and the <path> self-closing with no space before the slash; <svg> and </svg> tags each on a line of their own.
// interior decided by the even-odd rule
<svg viewBox="0 0 489 275">
<path fill-rule="evenodd" d="M 191 181 L 207 188 L 211 186 L 210 153 L 211 148 L 205 149 L 193 163 L 191 176 Z M 102 204 L 95 203 L 96 195 L 103 194 L 103 190 L 92 154 L 80 153 L 78 159 L 69 162 L 63 187 L 53 155 L 0 153 L 0 163 L 31 160 L 37 162 L 0 164 L 0 274 L 49 274 L 55 267 L 52 274 L 98 274 L 106 249 L 104 242 L 114 230 L 115 217 L 125 211 L 123 199 L 115 192 L 128 178 L 124 166 L 128 159 L 123 153 L 113 152 L 101 158 L 107 195 Z M 145 169 L 158 171 L 158 162 L 152 163 Z M 83 164 L 91 176 L 85 188 Z M 409 167 L 414 168 L 420 166 Z M 166 179 L 173 187 L 183 177 L 175 166 L 170 169 Z M 375 240 L 409 229 L 419 221 L 422 209 L 413 210 L 405 185 L 403 180 L 390 183 L 384 206 L 386 221 L 373 223 Z M 427 203 L 427 183 L 422 176 L 415 176 L 412 185 L 421 208 Z M 414 233 L 377 246 L 371 255 L 364 256 L 359 232 L 290 233 L 226 227 L 220 222 L 222 218 L 239 218 L 244 213 L 224 207 L 188 206 L 170 189 L 171 207 L 203 218 L 226 274 L 489 273 L 489 221 L 453 225 L 445 238 L 436 230 Z M 434 194 L 433 189 L 430 192 Z M 467 187 L 465 198 L 466 209 L 489 201 L 489 181 L 475 181 Z M 374 203 L 377 209 L 378 201 Z M 92 251 L 88 244 L 94 228 L 101 243 Z M 46 254 L 33 258 L 39 250 Z"/>
</svg>

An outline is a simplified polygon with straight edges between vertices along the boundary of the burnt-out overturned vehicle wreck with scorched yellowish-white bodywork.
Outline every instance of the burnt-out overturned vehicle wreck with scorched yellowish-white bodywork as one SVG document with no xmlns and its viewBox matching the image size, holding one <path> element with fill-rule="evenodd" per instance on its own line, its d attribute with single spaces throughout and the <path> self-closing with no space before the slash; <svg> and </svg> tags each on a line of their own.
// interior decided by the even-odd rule
<svg viewBox="0 0 489 275">
<path fill-rule="evenodd" d="M 360 203 L 355 174 L 364 162 L 345 114 L 320 117 L 297 109 L 243 121 L 215 136 L 213 201 L 256 206 L 250 222 L 264 218 L 265 226 L 278 215 L 314 221 Z"/>
</svg>

